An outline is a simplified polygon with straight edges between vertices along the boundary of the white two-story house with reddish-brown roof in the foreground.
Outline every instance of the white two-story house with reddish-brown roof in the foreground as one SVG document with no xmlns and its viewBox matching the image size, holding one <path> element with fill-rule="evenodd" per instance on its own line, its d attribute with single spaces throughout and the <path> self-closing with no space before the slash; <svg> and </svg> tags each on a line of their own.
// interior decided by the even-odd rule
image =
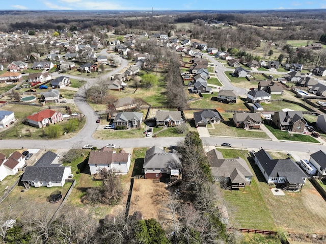
<svg viewBox="0 0 326 244">
<path fill-rule="evenodd" d="M 91 175 L 99 173 L 102 169 L 116 174 L 126 175 L 130 168 L 130 153 L 124 150 L 115 150 L 103 147 L 100 150 L 91 151 L 88 159 Z"/>
</svg>

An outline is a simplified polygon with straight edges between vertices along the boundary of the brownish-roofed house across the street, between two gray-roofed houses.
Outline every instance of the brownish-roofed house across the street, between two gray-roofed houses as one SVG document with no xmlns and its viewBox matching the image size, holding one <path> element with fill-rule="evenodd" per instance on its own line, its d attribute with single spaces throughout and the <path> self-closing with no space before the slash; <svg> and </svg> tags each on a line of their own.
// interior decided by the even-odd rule
<svg viewBox="0 0 326 244">
<path fill-rule="evenodd" d="M 156 126 L 179 126 L 183 122 L 181 111 L 158 110 L 155 113 Z"/>
</svg>

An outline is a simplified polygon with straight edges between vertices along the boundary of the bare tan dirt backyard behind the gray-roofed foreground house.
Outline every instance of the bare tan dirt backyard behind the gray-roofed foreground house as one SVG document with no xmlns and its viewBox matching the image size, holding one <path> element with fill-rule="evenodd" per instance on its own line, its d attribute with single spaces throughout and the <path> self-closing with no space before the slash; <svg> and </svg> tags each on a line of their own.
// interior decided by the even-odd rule
<svg viewBox="0 0 326 244">
<path fill-rule="evenodd" d="M 153 183 L 151 179 L 134 180 L 129 215 L 140 211 L 144 219 L 158 219 L 159 213 L 169 201 L 165 183 Z"/>
</svg>

